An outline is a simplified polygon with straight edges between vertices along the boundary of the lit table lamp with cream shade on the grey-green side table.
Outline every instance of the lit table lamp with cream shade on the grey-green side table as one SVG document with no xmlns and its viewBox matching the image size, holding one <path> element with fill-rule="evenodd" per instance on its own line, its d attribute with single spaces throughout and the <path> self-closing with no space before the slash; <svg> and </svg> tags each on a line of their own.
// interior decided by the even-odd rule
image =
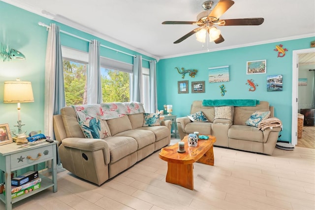
<svg viewBox="0 0 315 210">
<path fill-rule="evenodd" d="M 4 82 L 4 96 L 3 103 L 17 103 L 18 104 L 18 124 L 14 125 L 18 127 L 18 134 L 15 134 L 17 137 L 26 136 L 26 131 L 22 133 L 22 124 L 21 121 L 21 104 L 20 103 L 29 103 L 34 102 L 32 84 L 27 81 L 5 81 Z"/>
</svg>

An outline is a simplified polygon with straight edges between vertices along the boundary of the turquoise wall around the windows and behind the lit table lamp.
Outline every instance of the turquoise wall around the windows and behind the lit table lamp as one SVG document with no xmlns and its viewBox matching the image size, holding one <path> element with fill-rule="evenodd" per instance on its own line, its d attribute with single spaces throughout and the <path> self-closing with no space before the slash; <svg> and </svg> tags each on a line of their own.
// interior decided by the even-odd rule
<svg viewBox="0 0 315 210">
<path fill-rule="evenodd" d="M 14 15 L 13 15 L 14 14 Z M 32 82 L 34 103 L 21 104 L 21 119 L 26 125 L 22 130 L 28 132 L 32 130 L 44 130 L 44 78 L 45 78 L 45 55 L 47 34 L 46 28 L 38 25 L 43 22 L 46 25 L 56 23 L 52 20 L 36 15 L 32 12 L 18 8 L 11 4 L 0 1 L 0 42 L 8 44 L 10 47 L 21 51 L 26 60 L 12 60 L 9 62 L 0 61 L 0 124 L 8 123 L 10 130 L 16 130 L 17 123 L 17 104 L 3 103 L 3 84 L 4 81 L 20 78 L 24 81 Z M 126 53 L 136 55 L 135 51 L 126 49 L 106 40 L 97 38 L 93 35 L 73 29 L 63 24 L 57 23 L 60 29 L 81 36 L 86 39 L 97 39 L 102 45 L 112 47 Z M 74 49 L 88 51 L 89 43 L 87 41 L 72 37 L 70 35 L 61 35 L 63 46 Z M 106 48 L 100 48 L 101 56 L 115 59 L 118 61 L 133 63 L 132 56 L 117 53 Z M 140 54 L 141 55 L 141 54 Z M 154 60 L 148 56 L 142 55 L 147 60 Z M 143 67 L 149 68 L 149 62 L 143 61 Z"/>
</svg>

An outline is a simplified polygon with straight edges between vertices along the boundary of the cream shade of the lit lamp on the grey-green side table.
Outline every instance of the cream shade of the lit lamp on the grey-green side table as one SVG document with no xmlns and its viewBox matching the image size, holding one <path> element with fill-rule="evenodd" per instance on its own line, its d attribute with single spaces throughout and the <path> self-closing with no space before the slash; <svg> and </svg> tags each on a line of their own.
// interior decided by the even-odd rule
<svg viewBox="0 0 315 210">
<path fill-rule="evenodd" d="M 5 81 L 3 103 L 34 102 L 31 82 Z"/>
</svg>

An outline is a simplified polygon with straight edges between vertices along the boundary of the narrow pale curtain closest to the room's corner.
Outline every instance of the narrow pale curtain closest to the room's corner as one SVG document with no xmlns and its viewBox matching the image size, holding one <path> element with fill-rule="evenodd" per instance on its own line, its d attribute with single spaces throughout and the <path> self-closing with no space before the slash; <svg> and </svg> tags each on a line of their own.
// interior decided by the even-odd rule
<svg viewBox="0 0 315 210">
<path fill-rule="evenodd" d="M 150 112 L 155 113 L 158 109 L 157 102 L 157 70 L 156 61 L 149 62 L 150 68 Z"/>
</svg>

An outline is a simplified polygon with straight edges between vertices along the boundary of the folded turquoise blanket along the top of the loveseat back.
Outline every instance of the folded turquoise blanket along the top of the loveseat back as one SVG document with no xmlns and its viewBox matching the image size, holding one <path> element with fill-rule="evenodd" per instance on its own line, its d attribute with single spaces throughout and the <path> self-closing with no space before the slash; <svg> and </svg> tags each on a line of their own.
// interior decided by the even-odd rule
<svg viewBox="0 0 315 210">
<path fill-rule="evenodd" d="M 203 106 L 256 106 L 259 105 L 259 100 L 253 99 L 223 99 L 223 100 L 203 100 Z"/>
</svg>

